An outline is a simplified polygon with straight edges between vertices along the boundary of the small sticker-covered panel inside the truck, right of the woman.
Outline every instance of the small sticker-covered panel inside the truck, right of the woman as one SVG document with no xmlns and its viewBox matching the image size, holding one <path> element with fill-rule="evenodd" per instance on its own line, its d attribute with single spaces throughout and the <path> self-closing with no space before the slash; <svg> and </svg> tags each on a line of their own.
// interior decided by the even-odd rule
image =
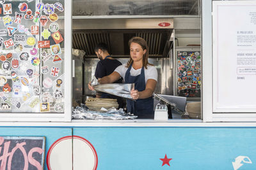
<svg viewBox="0 0 256 170">
<path fill-rule="evenodd" d="M 201 52 L 200 46 L 175 48 L 175 96 L 200 99 Z"/>
</svg>

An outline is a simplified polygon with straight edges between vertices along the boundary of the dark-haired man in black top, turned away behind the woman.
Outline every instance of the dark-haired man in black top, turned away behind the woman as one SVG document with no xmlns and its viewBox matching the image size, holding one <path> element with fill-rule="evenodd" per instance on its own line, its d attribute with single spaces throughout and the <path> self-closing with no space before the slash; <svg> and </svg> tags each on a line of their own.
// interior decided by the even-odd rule
<svg viewBox="0 0 256 170">
<path fill-rule="evenodd" d="M 122 63 L 116 59 L 113 59 L 111 55 L 109 55 L 108 45 L 106 43 L 99 43 L 95 46 L 95 53 L 98 57 L 99 62 L 97 63 L 97 67 L 95 70 L 95 77 L 99 80 L 100 78 L 104 76 L 108 76 L 109 74 L 113 73 L 115 71 L 116 67 L 121 66 Z M 123 79 L 119 78 L 113 81 L 112 83 L 123 83 Z M 93 90 L 90 83 L 88 83 L 88 88 L 90 90 Z M 113 96 L 111 94 L 103 93 L 103 92 L 97 92 L 96 97 L 98 98 L 111 98 L 111 99 L 117 99 L 118 102 L 118 108 L 124 108 L 125 101 L 122 99 L 122 97 Z"/>
</svg>

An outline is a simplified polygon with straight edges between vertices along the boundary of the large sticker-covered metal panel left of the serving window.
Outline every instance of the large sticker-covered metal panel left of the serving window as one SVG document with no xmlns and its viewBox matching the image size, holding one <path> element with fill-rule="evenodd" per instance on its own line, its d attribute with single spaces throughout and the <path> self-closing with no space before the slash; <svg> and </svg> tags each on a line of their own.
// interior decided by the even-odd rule
<svg viewBox="0 0 256 170">
<path fill-rule="evenodd" d="M 71 4 L 65 0 L 3 3 L 0 117 L 70 120 Z"/>
</svg>

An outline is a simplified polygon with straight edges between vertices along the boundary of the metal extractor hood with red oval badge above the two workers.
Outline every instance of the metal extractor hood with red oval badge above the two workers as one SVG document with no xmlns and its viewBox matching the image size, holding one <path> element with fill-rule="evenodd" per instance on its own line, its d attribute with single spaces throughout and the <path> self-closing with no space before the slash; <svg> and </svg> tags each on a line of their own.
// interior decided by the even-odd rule
<svg viewBox="0 0 256 170">
<path fill-rule="evenodd" d="M 165 57 L 172 31 L 172 18 L 77 18 L 73 19 L 73 48 L 95 57 L 95 45 L 104 42 L 113 57 L 128 57 L 129 39 L 140 36 L 147 41 L 150 57 Z"/>
</svg>

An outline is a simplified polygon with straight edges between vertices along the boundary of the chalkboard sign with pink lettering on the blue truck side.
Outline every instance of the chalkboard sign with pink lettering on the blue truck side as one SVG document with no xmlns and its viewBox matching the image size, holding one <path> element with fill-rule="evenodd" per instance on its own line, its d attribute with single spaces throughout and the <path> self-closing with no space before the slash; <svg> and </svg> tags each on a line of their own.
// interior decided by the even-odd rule
<svg viewBox="0 0 256 170">
<path fill-rule="evenodd" d="M 0 169 L 44 169 L 45 137 L 0 136 Z"/>
</svg>

